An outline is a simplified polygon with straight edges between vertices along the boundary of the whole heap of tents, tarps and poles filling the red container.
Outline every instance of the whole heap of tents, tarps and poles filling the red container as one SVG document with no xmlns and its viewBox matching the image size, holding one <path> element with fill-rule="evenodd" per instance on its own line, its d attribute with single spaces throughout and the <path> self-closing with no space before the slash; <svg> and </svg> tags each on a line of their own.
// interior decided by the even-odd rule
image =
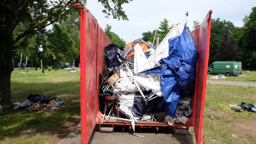
<svg viewBox="0 0 256 144">
<path fill-rule="evenodd" d="M 105 47 L 99 86 L 104 120 L 131 122 L 133 129 L 139 121 L 159 119 L 169 125 L 186 124 L 193 111 L 190 93 L 197 73 L 197 47 L 180 24 L 158 43 L 157 35 L 156 46 L 137 39 L 124 49 L 117 44 Z"/>
</svg>

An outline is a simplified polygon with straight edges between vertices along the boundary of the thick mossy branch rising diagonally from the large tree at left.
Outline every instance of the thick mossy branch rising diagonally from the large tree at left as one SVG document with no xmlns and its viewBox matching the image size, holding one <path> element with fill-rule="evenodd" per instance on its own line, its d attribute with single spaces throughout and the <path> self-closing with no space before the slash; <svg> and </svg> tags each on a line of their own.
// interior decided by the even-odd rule
<svg viewBox="0 0 256 144">
<path fill-rule="evenodd" d="M 56 10 L 54 10 L 54 11 L 53 11 L 51 14 L 49 14 L 47 17 L 45 17 L 44 19 L 42 19 L 40 22 L 36 23 L 32 28 L 26 30 L 25 32 L 23 32 L 22 34 L 20 34 L 19 36 L 17 36 L 17 37 L 14 39 L 14 41 L 17 42 L 17 41 L 19 41 L 21 38 L 23 38 L 25 35 L 28 35 L 28 34 L 30 34 L 31 32 L 33 32 L 33 30 L 34 30 L 35 28 L 37 28 L 37 27 L 40 26 L 43 22 L 45 22 L 45 21 L 47 21 L 48 19 L 50 19 L 50 18 L 54 15 L 54 13 L 56 13 L 56 12 L 58 12 L 59 10 L 61 10 L 61 9 L 65 8 L 65 7 L 67 7 L 72 1 L 73 1 L 73 0 L 69 0 L 66 4 L 64 4 L 64 5 L 62 5 L 61 7 L 57 8 Z M 66 12 L 65 12 L 65 13 L 66 13 Z M 64 15 L 64 14 L 62 14 L 61 16 L 63 16 L 63 15 Z M 42 29 L 45 28 L 46 26 L 49 26 L 49 25 L 43 26 Z"/>
</svg>

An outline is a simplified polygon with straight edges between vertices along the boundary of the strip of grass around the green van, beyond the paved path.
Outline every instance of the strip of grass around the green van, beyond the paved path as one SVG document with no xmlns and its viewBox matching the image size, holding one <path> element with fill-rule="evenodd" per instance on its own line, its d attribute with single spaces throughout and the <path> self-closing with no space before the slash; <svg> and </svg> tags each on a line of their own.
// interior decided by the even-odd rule
<svg viewBox="0 0 256 144">
<path fill-rule="evenodd" d="M 209 76 L 215 74 L 207 74 L 207 79 Z M 256 71 L 251 70 L 251 73 L 245 73 L 242 71 L 242 75 L 245 76 L 226 76 L 226 79 L 208 79 L 208 80 L 222 80 L 222 81 L 235 81 L 235 82 L 256 82 Z"/>
</svg>

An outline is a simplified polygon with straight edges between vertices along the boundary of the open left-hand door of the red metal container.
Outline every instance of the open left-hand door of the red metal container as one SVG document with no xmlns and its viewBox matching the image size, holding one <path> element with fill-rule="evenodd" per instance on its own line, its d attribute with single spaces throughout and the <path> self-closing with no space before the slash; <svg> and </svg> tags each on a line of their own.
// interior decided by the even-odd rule
<svg viewBox="0 0 256 144">
<path fill-rule="evenodd" d="M 88 143 L 95 127 L 98 23 L 89 10 L 80 12 L 81 143 Z"/>
</svg>

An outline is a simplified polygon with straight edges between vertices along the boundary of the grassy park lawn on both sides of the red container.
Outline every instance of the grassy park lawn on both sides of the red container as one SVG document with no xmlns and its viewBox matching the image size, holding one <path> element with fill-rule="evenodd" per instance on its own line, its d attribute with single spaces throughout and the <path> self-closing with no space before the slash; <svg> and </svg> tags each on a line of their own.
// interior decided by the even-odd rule
<svg viewBox="0 0 256 144">
<path fill-rule="evenodd" d="M 65 103 L 56 110 L 34 113 L 13 110 L 13 107 L 0 110 L 0 144 L 57 143 L 80 122 L 80 71 L 46 71 L 43 75 L 33 69 L 32 73 L 20 73 L 23 71 L 16 69 L 11 76 L 13 102 L 23 102 L 32 93 L 59 96 Z M 248 74 L 255 76 L 255 72 Z M 256 113 L 239 113 L 227 108 L 242 101 L 255 104 L 256 88 L 207 84 L 203 119 L 207 143 L 256 143 Z M 194 133 L 193 128 L 190 133 Z"/>
</svg>

